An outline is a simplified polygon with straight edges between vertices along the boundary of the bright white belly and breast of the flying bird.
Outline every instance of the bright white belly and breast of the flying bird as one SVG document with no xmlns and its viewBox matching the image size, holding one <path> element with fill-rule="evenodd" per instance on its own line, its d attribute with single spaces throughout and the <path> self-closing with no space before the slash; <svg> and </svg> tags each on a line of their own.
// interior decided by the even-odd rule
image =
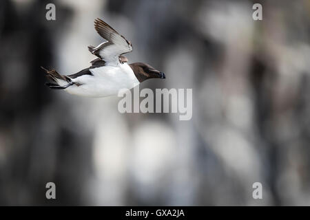
<svg viewBox="0 0 310 220">
<path fill-rule="evenodd" d="M 117 95 L 120 89 L 132 89 L 139 84 L 132 68 L 127 63 L 117 67 L 104 66 L 90 69 L 93 76 L 83 75 L 72 79 L 80 86 L 72 85 L 65 89 L 70 94 L 88 97 Z"/>
</svg>

